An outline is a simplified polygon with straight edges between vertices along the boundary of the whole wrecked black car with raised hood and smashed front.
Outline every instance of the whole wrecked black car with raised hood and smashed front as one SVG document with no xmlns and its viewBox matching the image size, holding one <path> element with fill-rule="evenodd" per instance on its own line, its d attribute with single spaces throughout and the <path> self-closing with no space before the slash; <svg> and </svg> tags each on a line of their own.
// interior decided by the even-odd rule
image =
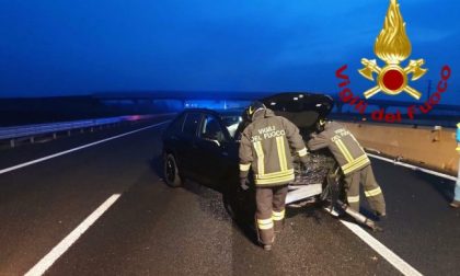
<svg viewBox="0 0 460 276">
<path fill-rule="evenodd" d="M 325 118 L 334 105 L 329 95 L 310 93 L 280 93 L 261 101 L 276 115 L 291 120 L 306 141 L 317 122 Z M 185 110 L 163 134 L 165 182 L 170 186 L 181 186 L 185 179 L 191 179 L 220 191 L 233 218 L 238 214 L 254 214 L 254 187 L 246 192 L 239 188 L 241 114 L 241 111 Z M 337 202 L 341 194 L 343 196 L 343 184 L 335 159 L 327 149 L 312 152 L 308 158 L 304 170 L 295 162 L 296 181 L 289 185 L 286 204 L 312 197 Z M 340 205 L 358 221 L 372 222 L 347 210 L 346 205 Z"/>
</svg>

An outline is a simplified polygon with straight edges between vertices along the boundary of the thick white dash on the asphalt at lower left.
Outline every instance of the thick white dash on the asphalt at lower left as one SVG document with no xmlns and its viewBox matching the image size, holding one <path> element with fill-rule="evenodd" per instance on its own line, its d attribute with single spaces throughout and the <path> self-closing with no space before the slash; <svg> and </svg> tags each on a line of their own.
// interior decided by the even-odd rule
<svg viewBox="0 0 460 276">
<path fill-rule="evenodd" d="M 107 200 L 34 265 L 25 276 L 43 275 L 118 199 L 119 196 L 120 194 L 114 194 L 108 197 Z"/>
</svg>

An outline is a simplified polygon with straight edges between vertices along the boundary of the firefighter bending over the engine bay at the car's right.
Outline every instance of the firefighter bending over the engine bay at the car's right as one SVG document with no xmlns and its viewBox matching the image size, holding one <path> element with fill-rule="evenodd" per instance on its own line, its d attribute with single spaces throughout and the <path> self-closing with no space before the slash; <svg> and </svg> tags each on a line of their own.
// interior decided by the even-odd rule
<svg viewBox="0 0 460 276">
<path fill-rule="evenodd" d="M 386 216 L 386 203 L 377 183 L 370 160 L 355 136 L 335 122 L 319 119 L 317 133 L 311 135 L 307 146 L 309 150 L 329 148 L 345 175 L 345 192 L 348 206 L 359 211 L 359 183 L 377 216 Z"/>
</svg>

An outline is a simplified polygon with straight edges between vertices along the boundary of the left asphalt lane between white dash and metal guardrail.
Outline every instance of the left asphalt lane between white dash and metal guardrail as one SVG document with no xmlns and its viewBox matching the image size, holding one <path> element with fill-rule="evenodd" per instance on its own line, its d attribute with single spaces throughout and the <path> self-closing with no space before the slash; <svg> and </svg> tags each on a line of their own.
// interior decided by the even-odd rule
<svg viewBox="0 0 460 276">
<path fill-rule="evenodd" d="M 70 149 L 82 145 L 76 138 L 82 139 L 83 143 L 93 142 L 142 126 L 24 146 L 18 148 L 18 156 L 2 152 L 1 159 L 8 159 L 3 163 L 13 165 L 19 160 L 25 160 L 25 147 L 33 147 L 35 150 L 31 152 L 36 158 L 37 152 L 56 153 L 53 150 L 55 142 L 59 150 Z M 152 131 L 158 133 L 159 129 Z M 129 138 L 137 137 L 133 135 Z M 62 142 L 68 142 L 68 147 L 64 147 Z M 97 146 L 100 149 L 110 147 L 104 156 L 89 148 L 0 175 L 0 275 L 26 272 L 110 195 L 122 193 L 129 186 L 138 171 L 142 170 L 139 162 L 149 162 L 147 157 L 142 160 L 129 159 L 135 146 L 128 148 L 126 143 L 131 142 L 120 138 L 110 145 Z M 149 143 L 149 140 L 143 142 Z M 154 152 L 150 154 L 151 158 Z M 122 169 L 120 159 L 124 162 Z"/>
</svg>

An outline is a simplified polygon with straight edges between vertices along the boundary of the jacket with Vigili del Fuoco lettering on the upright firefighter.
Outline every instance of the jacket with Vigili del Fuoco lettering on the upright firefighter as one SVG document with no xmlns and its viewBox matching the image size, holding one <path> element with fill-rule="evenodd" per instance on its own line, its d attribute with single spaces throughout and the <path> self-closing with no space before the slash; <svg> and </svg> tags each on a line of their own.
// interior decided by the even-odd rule
<svg viewBox="0 0 460 276">
<path fill-rule="evenodd" d="M 297 151 L 307 162 L 307 148 L 299 129 L 271 110 L 254 114 L 240 141 L 240 177 L 248 177 L 252 168 L 256 186 L 277 186 L 294 181 L 292 156 Z"/>
</svg>

